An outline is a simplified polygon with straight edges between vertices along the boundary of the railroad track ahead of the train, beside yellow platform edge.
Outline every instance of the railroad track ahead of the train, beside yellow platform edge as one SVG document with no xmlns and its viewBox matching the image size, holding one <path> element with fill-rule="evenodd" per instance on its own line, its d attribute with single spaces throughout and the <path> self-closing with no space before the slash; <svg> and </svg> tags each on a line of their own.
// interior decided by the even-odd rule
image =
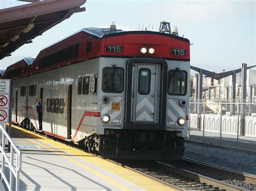
<svg viewBox="0 0 256 191">
<path fill-rule="evenodd" d="M 163 162 L 113 161 L 152 179 L 174 186 L 177 190 L 247 190 L 214 180 Z"/>
</svg>

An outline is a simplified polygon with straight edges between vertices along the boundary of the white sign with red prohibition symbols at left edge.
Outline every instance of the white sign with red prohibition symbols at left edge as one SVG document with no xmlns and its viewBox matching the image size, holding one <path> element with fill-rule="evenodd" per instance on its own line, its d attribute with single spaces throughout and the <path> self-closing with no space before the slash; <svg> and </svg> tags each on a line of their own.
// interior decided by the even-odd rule
<svg viewBox="0 0 256 191">
<path fill-rule="evenodd" d="M 11 80 L 0 79 L 0 122 L 9 122 Z"/>
</svg>

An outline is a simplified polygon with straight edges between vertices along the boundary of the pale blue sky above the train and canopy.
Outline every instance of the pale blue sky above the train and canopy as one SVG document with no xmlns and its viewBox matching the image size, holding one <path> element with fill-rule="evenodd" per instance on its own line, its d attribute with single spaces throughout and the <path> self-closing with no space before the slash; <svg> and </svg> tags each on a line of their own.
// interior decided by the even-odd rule
<svg viewBox="0 0 256 191">
<path fill-rule="evenodd" d="M 0 0 L 0 8 L 22 4 Z M 221 72 L 256 65 L 256 1 L 103 1 L 87 0 L 86 11 L 33 39 L 0 60 L 0 69 L 36 56 L 43 48 L 85 27 L 118 26 L 157 31 L 161 20 L 177 25 L 179 34 L 191 42 L 191 65 Z"/>
</svg>

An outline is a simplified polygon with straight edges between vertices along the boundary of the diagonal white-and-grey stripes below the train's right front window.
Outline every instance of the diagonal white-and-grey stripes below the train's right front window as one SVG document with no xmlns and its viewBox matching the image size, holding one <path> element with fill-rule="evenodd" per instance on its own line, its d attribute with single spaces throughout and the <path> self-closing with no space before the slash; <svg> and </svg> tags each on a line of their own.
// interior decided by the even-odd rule
<svg viewBox="0 0 256 191">
<path fill-rule="evenodd" d="M 179 117 L 186 117 L 186 107 L 179 104 L 179 99 L 168 99 L 167 102 L 167 121 L 177 122 Z M 173 123 L 173 125 L 176 123 Z"/>
</svg>

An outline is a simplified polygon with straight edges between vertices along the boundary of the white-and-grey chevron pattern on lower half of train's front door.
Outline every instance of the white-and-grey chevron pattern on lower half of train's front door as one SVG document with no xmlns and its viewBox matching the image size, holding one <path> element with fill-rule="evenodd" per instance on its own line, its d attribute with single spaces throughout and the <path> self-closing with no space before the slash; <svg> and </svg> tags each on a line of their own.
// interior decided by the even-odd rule
<svg viewBox="0 0 256 191">
<path fill-rule="evenodd" d="M 136 121 L 153 122 L 154 105 L 145 97 L 136 105 Z"/>
</svg>

